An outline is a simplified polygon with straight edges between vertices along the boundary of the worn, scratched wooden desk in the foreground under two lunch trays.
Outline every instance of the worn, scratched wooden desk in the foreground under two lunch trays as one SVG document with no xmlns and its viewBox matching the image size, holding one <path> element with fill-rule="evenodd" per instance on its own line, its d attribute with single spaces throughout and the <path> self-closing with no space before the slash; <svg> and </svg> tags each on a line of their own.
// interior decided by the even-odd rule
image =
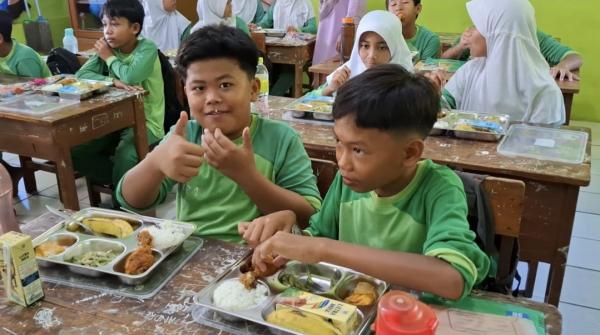
<svg viewBox="0 0 600 335">
<path fill-rule="evenodd" d="M 32 236 L 37 236 L 59 220 L 58 217 L 47 213 L 22 226 L 22 229 Z M 205 240 L 202 249 L 156 296 L 143 301 L 44 283 L 45 298 L 32 307 L 23 308 L 8 303 L 0 288 L 0 333 L 226 333 L 193 321 L 190 315 L 193 297 L 247 252 L 248 248 L 242 245 Z M 474 292 L 474 295 L 541 311 L 545 315 L 546 334 L 561 334 L 562 320 L 554 306 L 487 292 Z M 46 322 L 39 321 L 39 315 L 42 313 L 46 313 Z M 36 314 L 38 321 L 34 319 Z"/>
</svg>

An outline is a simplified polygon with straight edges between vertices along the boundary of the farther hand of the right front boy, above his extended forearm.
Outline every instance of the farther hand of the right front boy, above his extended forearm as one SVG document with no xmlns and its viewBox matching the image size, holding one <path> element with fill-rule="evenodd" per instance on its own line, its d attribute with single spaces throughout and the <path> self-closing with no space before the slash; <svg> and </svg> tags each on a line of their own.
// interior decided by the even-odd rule
<svg viewBox="0 0 600 335">
<path fill-rule="evenodd" d="M 252 248 L 266 241 L 278 231 L 291 232 L 296 214 L 286 210 L 261 216 L 252 222 L 240 222 L 238 232 Z"/>
</svg>

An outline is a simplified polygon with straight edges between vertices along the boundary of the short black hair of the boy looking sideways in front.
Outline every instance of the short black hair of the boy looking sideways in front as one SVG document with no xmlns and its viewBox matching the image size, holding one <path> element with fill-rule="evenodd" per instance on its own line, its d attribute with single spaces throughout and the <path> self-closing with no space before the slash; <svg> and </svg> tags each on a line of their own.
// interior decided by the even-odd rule
<svg viewBox="0 0 600 335">
<path fill-rule="evenodd" d="M 440 111 L 440 93 L 426 77 L 397 64 L 377 65 L 350 79 L 337 92 L 333 118 L 354 116 L 359 128 L 397 134 L 431 132 Z"/>
</svg>

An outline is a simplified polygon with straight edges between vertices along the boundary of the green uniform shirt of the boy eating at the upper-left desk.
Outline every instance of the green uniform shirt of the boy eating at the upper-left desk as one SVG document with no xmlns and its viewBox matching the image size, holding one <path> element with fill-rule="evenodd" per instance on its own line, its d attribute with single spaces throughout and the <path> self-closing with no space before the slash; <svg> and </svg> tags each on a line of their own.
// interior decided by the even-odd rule
<svg viewBox="0 0 600 335">
<path fill-rule="evenodd" d="M 148 92 L 144 96 L 146 127 L 158 138 L 165 135 L 165 93 L 158 48 L 154 42 L 138 38 L 135 49 L 124 54 L 113 49 L 115 56 L 103 61 L 98 55 L 92 56 L 77 71 L 77 78 L 113 81 L 118 79 L 127 85 L 142 86 Z"/>
</svg>

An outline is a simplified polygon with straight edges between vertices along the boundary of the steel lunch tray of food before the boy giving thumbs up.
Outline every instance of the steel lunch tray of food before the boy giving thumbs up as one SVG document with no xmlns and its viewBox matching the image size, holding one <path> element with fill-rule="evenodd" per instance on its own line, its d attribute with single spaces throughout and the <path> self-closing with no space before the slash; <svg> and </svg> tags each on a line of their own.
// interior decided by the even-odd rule
<svg viewBox="0 0 600 335">
<path fill-rule="evenodd" d="M 63 222 L 33 241 L 38 264 L 44 267 L 64 266 L 74 273 L 90 277 L 113 276 L 115 280 L 118 279 L 128 285 L 137 285 L 148 279 L 152 271 L 195 229 L 194 225 L 187 223 L 161 223 L 157 228 L 167 229 L 168 233 L 172 233 L 178 239 L 173 240 L 173 244 L 166 248 L 164 244 L 158 245 L 163 249 L 157 248 L 157 242 L 153 241 L 149 250 L 149 254 L 151 253 L 154 258 L 151 265 L 142 273 L 127 274 L 126 262 L 128 257 L 138 250 L 140 232 L 155 224 L 145 222 L 141 216 L 101 208 L 86 208 L 75 213 L 72 219 L 82 224 L 87 223 L 94 231 L 101 227 L 101 231 L 109 232 L 110 235 L 105 233 L 91 235 L 82 227 L 76 225 L 73 227 Z M 102 222 L 92 226 L 90 220 Z M 167 233 L 167 230 L 161 231 Z M 148 258 L 145 261 L 147 262 Z"/>
</svg>

